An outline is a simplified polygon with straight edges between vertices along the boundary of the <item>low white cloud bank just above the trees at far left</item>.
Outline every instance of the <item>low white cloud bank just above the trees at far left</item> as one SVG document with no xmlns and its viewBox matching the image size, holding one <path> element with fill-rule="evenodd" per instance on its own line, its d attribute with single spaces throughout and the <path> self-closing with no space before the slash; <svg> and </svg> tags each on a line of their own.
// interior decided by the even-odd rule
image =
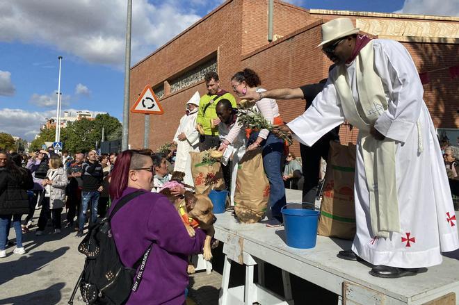
<svg viewBox="0 0 459 305">
<path fill-rule="evenodd" d="M 65 109 L 70 115 L 76 115 L 77 109 Z M 88 110 L 81 110 L 88 111 Z M 92 113 L 104 113 L 92 111 Z M 0 109 L 0 132 L 10 133 L 25 140 L 31 141 L 35 135 L 40 133 L 40 126 L 45 124 L 47 117 L 56 117 L 56 110 L 47 111 L 26 111 L 22 109 Z"/>
</svg>

